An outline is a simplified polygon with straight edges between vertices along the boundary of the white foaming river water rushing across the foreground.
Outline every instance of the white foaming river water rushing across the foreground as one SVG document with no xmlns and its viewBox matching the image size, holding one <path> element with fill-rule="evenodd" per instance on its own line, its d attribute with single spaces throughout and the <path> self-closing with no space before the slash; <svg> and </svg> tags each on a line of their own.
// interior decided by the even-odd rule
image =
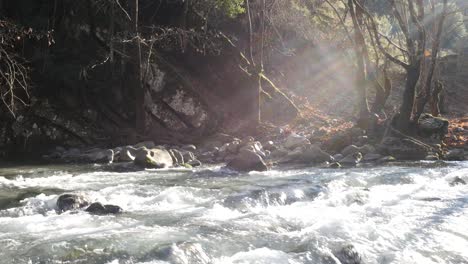
<svg viewBox="0 0 468 264">
<path fill-rule="evenodd" d="M 468 163 L 0 169 L 0 263 L 468 263 Z M 62 193 L 120 215 L 58 214 Z M 346 254 L 345 254 L 346 255 Z"/>
</svg>

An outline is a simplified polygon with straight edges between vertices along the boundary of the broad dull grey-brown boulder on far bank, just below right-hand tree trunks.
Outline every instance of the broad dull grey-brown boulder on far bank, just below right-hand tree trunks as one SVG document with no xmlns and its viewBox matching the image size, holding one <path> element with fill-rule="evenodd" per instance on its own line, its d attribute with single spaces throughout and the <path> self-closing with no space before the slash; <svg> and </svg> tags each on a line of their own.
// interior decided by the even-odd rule
<svg viewBox="0 0 468 264">
<path fill-rule="evenodd" d="M 378 151 L 398 160 L 422 160 L 427 157 L 431 148 L 411 138 L 385 137 L 378 146 Z"/>
</svg>

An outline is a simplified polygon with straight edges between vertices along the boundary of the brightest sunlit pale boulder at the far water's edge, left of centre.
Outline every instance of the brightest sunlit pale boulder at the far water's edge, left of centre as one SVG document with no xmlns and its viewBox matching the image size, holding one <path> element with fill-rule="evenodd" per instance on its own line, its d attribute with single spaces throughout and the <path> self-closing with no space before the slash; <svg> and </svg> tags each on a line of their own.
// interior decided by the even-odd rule
<svg viewBox="0 0 468 264">
<path fill-rule="evenodd" d="M 139 149 L 135 155 L 135 165 L 143 168 L 167 168 L 174 165 L 169 152 L 165 149 Z"/>
</svg>

